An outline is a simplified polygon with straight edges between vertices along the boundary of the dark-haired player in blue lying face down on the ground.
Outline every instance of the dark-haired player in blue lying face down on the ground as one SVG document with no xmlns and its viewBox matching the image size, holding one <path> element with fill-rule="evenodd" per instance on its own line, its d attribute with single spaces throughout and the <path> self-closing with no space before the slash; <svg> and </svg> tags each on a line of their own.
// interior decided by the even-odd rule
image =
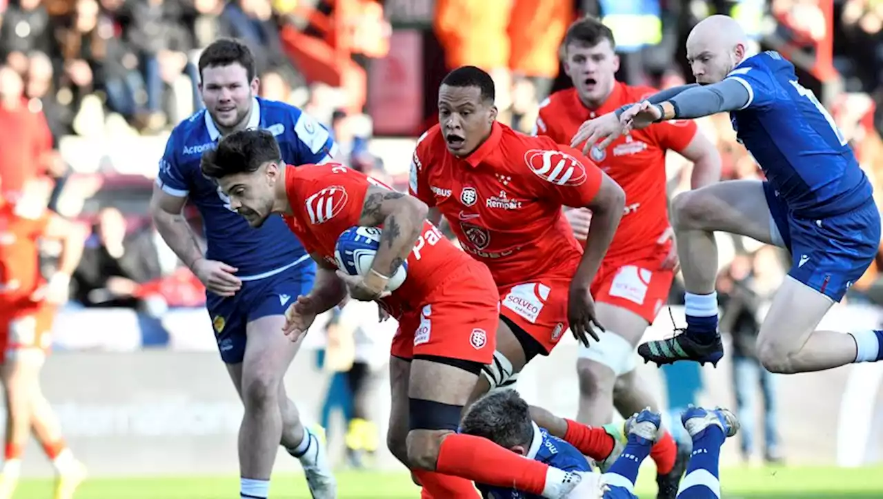
<svg viewBox="0 0 883 499">
<path fill-rule="evenodd" d="M 589 472 L 592 467 L 585 457 L 568 442 L 551 435 L 531 420 L 531 410 L 513 389 L 501 389 L 487 394 L 470 406 L 463 420 L 461 432 L 483 436 L 502 447 L 548 465 L 571 472 Z M 557 421 L 556 421 L 557 420 Z M 736 416 L 726 409 L 713 411 L 691 407 L 681 420 L 693 439 L 693 456 L 687 465 L 687 474 L 681 482 L 680 499 L 710 499 L 721 496 L 718 461 L 721 444 L 728 436 L 736 435 L 739 424 Z M 547 422 L 561 426 L 564 421 L 547 415 Z M 661 416 L 649 409 L 633 415 L 624 424 L 626 443 L 617 454 L 613 465 L 601 477 L 598 488 L 581 495 L 582 499 L 633 499 L 638 469 L 649 455 L 653 442 L 662 435 Z M 517 488 L 498 488 L 479 485 L 487 499 L 535 495 Z"/>
</svg>

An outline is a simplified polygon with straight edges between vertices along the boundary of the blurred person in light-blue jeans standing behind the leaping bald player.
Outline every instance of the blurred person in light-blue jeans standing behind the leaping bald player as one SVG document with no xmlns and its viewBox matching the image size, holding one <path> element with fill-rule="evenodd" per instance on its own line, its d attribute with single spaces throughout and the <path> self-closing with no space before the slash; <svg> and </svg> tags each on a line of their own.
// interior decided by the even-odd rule
<svg viewBox="0 0 883 499">
<path fill-rule="evenodd" d="M 776 277 L 781 282 L 777 251 L 772 246 L 765 246 L 753 258 L 746 254 L 736 255 L 728 268 L 721 273 L 717 283 L 718 297 L 723 308 L 721 331 L 728 332 L 733 343 L 731 359 L 736 411 L 743 425 L 740 449 L 746 462 L 751 460 L 757 436 L 754 425 L 757 415 L 754 395 L 758 384 L 764 404 L 764 459 L 767 463 L 781 460 L 774 374 L 760 365 L 755 346 L 760 320 L 766 313 L 771 292 L 774 291 L 769 284 Z"/>
</svg>

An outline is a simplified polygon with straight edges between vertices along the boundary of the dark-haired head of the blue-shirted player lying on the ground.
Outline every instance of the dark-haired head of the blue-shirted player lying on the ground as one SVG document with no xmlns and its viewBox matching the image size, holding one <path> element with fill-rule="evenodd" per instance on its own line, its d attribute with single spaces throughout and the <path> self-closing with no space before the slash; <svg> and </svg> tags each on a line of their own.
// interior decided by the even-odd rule
<svg viewBox="0 0 883 499">
<path fill-rule="evenodd" d="M 460 431 L 487 438 L 507 449 L 530 445 L 533 439 L 530 408 L 514 389 L 496 389 L 472 404 Z"/>
</svg>

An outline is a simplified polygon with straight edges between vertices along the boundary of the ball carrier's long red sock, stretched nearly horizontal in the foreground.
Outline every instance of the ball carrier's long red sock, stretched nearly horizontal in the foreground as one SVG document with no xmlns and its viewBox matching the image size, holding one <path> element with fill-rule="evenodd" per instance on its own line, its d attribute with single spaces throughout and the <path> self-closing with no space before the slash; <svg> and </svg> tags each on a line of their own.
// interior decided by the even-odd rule
<svg viewBox="0 0 883 499">
<path fill-rule="evenodd" d="M 435 465 L 439 473 L 530 494 L 543 493 L 548 468 L 487 439 L 462 434 L 445 437 Z"/>
</svg>

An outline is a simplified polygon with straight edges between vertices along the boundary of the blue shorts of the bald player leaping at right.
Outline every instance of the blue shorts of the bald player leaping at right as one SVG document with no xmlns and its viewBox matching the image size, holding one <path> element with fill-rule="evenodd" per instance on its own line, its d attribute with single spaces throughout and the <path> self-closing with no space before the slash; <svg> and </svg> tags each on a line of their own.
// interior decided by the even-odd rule
<svg viewBox="0 0 883 499">
<path fill-rule="evenodd" d="M 840 301 L 877 256 L 880 215 L 873 200 L 860 208 L 825 218 L 805 218 L 791 212 L 772 185 L 764 182 L 772 217 L 774 242 L 788 248 L 788 275 Z"/>
</svg>

